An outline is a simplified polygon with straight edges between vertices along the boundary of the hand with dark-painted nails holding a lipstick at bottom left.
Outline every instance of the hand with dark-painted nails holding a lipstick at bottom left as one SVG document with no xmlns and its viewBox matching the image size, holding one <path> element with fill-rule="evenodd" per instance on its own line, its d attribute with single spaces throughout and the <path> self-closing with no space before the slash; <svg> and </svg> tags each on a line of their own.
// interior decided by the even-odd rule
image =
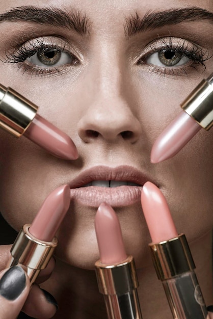
<svg viewBox="0 0 213 319">
<path fill-rule="evenodd" d="M 10 248 L 11 245 L 0 246 L 0 318 L 15 319 L 21 310 L 32 317 L 51 318 L 57 311 L 54 297 L 38 284 L 30 288 L 29 278 L 20 266 L 4 269 Z M 54 266 L 55 260 L 52 258 L 37 282 L 47 280 Z"/>
</svg>

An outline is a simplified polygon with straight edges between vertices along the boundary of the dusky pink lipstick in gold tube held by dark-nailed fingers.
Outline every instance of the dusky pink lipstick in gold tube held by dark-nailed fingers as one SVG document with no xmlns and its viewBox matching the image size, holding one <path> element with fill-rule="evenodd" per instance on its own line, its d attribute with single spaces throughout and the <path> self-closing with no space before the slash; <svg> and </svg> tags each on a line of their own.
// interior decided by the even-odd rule
<svg viewBox="0 0 213 319">
<path fill-rule="evenodd" d="M 70 205 L 69 185 L 51 192 L 43 202 L 32 224 L 25 224 L 11 248 L 7 267 L 20 264 L 31 285 L 40 271 L 46 268 L 58 240 L 55 234 Z"/>
</svg>

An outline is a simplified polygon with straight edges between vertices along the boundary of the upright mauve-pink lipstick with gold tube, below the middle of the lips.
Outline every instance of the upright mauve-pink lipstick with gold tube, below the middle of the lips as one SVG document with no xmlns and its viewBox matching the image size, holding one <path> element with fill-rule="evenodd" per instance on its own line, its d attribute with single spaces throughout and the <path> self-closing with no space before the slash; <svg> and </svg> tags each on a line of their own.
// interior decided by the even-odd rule
<svg viewBox="0 0 213 319">
<path fill-rule="evenodd" d="M 97 210 L 95 231 L 100 253 L 96 275 L 108 319 L 142 319 L 134 258 L 126 255 L 118 217 L 107 203 Z"/>
</svg>

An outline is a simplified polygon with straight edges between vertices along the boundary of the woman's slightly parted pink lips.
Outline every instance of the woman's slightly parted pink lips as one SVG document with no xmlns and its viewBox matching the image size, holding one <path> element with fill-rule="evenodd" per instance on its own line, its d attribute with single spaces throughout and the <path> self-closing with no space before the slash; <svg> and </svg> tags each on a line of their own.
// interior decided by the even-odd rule
<svg viewBox="0 0 213 319">
<path fill-rule="evenodd" d="M 95 166 L 70 183 L 70 195 L 90 207 L 102 202 L 113 207 L 127 206 L 140 200 L 143 184 L 148 180 L 151 179 L 134 167 Z"/>
</svg>

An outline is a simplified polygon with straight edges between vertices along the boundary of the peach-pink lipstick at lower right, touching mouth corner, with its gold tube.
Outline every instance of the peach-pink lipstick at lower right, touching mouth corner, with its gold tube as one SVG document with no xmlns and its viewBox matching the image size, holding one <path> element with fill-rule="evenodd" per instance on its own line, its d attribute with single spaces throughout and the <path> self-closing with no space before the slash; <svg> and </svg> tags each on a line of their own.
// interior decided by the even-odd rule
<svg viewBox="0 0 213 319">
<path fill-rule="evenodd" d="M 187 239 L 177 233 L 164 195 L 154 184 L 146 182 L 141 202 L 152 239 L 149 247 L 154 268 L 163 283 L 173 318 L 206 319 L 207 309 Z"/>
</svg>

